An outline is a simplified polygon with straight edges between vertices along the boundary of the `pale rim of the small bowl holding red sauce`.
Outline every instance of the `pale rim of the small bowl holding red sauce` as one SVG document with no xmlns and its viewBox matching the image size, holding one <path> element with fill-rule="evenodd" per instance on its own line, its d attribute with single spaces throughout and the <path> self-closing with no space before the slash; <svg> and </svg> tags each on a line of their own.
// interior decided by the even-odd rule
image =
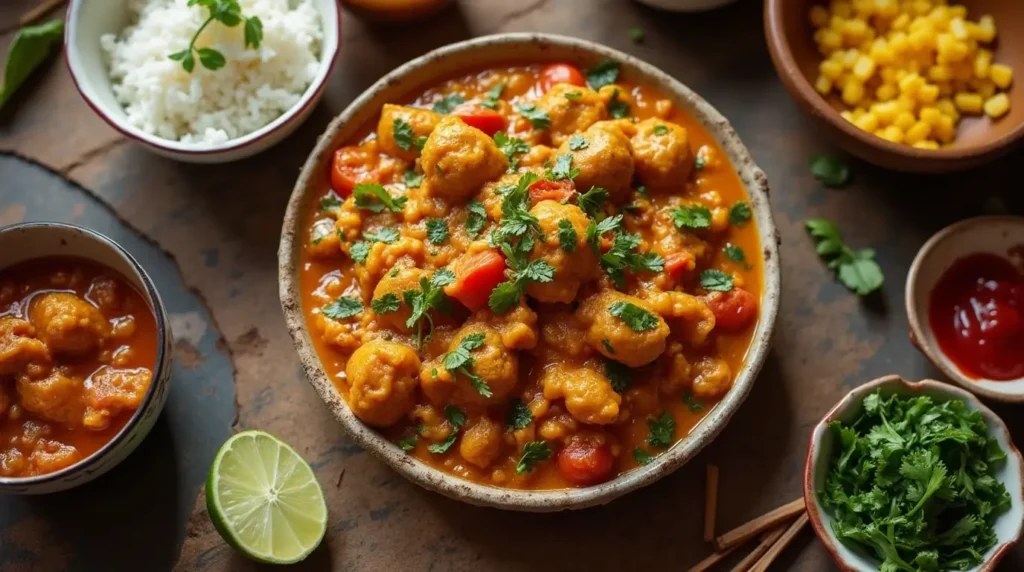
<svg viewBox="0 0 1024 572">
<path fill-rule="evenodd" d="M 923 323 L 924 318 L 918 315 L 918 305 L 914 304 L 913 300 L 914 293 L 918 290 L 918 276 L 921 273 L 921 269 L 925 265 L 925 261 L 932 256 L 933 251 L 935 251 L 941 243 L 955 239 L 957 234 L 973 226 L 992 223 L 1010 223 L 1024 226 L 1024 217 L 1012 215 L 973 217 L 950 224 L 933 234 L 932 237 L 929 238 L 923 247 L 921 247 L 916 256 L 913 257 L 913 262 L 910 264 L 910 270 L 906 274 L 906 287 L 903 291 L 903 306 L 906 309 L 906 318 L 910 325 L 910 341 L 913 343 L 913 346 L 918 348 L 921 353 L 925 354 L 925 357 L 927 357 L 933 365 L 942 370 L 947 378 L 971 393 L 1006 403 L 1024 403 L 1024 394 L 1014 395 L 1012 393 L 992 390 L 966 378 L 964 373 L 955 367 L 950 367 L 946 360 L 942 359 L 940 355 L 942 354 L 942 350 L 932 345 L 929 342 L 930 337 L 925 335 L 925 325 Z M 952 263 L 952 261 L 949 262 Z"/>
</svg>

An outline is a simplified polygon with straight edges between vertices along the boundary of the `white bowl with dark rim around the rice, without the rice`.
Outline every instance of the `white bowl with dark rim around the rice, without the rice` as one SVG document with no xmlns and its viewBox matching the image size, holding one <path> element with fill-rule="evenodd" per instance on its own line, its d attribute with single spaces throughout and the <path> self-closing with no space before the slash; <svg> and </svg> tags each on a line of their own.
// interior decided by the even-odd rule
<svg viewBox="0 0 1024 572">
<path fill-rule="evenodd" d="M 223 143 L 211 145 L 164 139 L 129 124 L 111 89 L 99 38 L 103 34 L 117 34 L 129 24 L 128 2 L 129 0 L 71 0 L 65 26 L 68 69 L 85 102 L 103 121 L 124 136 L 169 159 L 186 163 L 227 163 L 273 146 L 309 117 L 324 94 L 328 76 L 338 57 L 341 10 L 336 0 L 313 0 L 324 29 L 319 69 L 298 103 L 262 128 Z"/>
</svg>

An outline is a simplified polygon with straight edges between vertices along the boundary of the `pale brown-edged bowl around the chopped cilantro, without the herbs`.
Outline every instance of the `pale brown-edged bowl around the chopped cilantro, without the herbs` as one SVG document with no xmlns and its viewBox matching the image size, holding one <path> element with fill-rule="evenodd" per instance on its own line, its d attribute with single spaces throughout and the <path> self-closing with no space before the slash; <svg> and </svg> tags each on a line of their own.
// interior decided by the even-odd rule
<svg viewBox="0 0 1024 572">
<path fill-rule="evenodd" d="M 1007 460 L 996 471 L 995 478 L 1010 492 L 1010 509 L 999 516 L 995 522 L 996 544 L 984 555 L 983 564 L 974 568 L 974 572 L 990 572 L 995 569 L 999 560 L 1010 552 L 1021 536 L 1021 526 L 1024 523 L 1024 491 L 1022 491 L 1022 474 L 1024 459 L 1014 446 L 1002 420 L 986 407 L 977 397 L 970 393 L 941 382 L 925 380 L 923 382 L 907 382 L 899 376 L 887 376 L 851 391 L 825 414 L 811 432 L 810 446 L 807 450 L 807 463 L 804 467 L 804 500 L 807 504 L 807 515 L 810 518 L 814 532 L 821 539 L 825 548 L 831 554 L 839 567 L 846 572 L 874 572 L 881 562 L 873 556 L 854 549 L 841 542 L 833 533 L 833 517 L 818 498 L 818 491 L 825 486 L 829 460 L 836 450 L 836 437 L 828 428 L 833 421 L 852 422 L 862 410 L 864 398 L 881 390 L 884 397 L 890 395 L 919 396 L 928 395 L 937 402 L 958 399 L 965 402 L 969 409 L 980 411 L 988 425 L 988 433 L 994 437 L 999 447 L 1007 452 Z"/>
</svg>

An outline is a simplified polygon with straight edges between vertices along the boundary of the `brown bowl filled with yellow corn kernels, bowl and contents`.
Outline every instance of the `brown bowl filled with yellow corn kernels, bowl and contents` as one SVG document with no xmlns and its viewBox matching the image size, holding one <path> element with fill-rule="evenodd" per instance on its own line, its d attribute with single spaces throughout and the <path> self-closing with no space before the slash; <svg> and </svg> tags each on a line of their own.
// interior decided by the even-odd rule
<svg viewBox="0 0 1024 572">
<path fill-rule="evenodd" d="M 1020 0 L 767 0 L 765 33 L 786 90 L 865 161 L 944 173 L 1024 140 Z"/>
</svg>

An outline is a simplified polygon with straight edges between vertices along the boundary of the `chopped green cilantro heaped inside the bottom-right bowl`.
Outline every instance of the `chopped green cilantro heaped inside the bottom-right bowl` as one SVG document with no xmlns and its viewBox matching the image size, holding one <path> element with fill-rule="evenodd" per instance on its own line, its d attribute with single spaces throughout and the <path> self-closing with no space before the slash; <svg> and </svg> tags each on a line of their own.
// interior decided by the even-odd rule
<svg viewBox="0 0 1024 572">
<path fill-rule="evenodd" d="M 1006 458 L 963 401 L 864 399 L 852 424 L 833 422 L 837 452 L 818 496 L 842 541 L 873 553 L 883 572 L 966 570 L 996 542 L 1010 495 L 993 476 Z"/>
</svg>

